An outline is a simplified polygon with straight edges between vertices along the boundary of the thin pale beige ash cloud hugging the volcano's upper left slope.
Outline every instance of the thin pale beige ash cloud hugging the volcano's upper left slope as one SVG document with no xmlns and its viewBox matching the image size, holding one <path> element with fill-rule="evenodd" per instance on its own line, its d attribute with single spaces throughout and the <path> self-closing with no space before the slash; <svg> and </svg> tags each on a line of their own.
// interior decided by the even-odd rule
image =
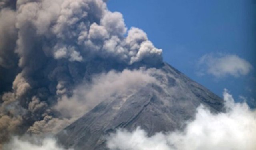
<svg viewBox="0 0 256 150">
<path fill-rule="evenodd" d="M 156 82 L 156 79 L 150 76 L 149 71 L 142 69 L 109 71 L 95 75 L 90 85 L 77 86 L 72 97 L 64 95 L 58 99 L 54 109 L 62 113 L 62 116 L 78 118 L 105 99 L 112 99 L 120 93 L 128 95 L 153 82 Z"/>
</svg>

